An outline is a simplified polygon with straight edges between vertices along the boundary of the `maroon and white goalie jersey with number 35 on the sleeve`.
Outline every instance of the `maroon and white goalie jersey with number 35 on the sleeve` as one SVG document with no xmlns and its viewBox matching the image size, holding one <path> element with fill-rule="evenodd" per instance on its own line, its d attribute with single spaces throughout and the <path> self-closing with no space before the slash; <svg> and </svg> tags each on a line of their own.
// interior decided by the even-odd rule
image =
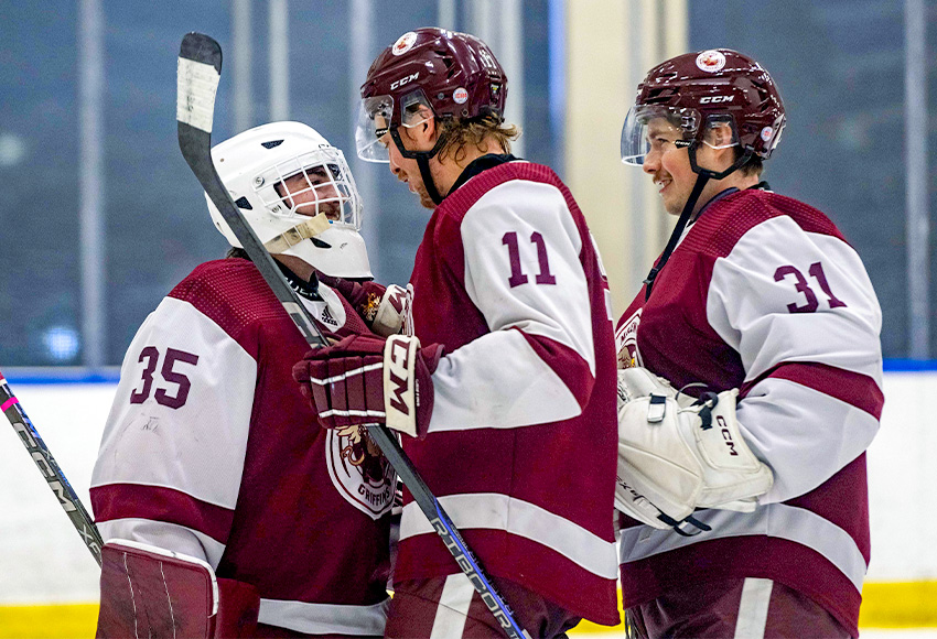
<svg viewBox="0 0 937 639">
<path fill-rule="evenodd" d="M 320 295 L 301 300 L 324 329 L 367 332 Z M 91 506 L 106 540 L 255 585 L 261 624 L 381 635 L 394 473 L 367 442 L 319 426 L 291 372 L 306 350 L 251 262 L 197 267 L 127 351 Z"/>
</svg>

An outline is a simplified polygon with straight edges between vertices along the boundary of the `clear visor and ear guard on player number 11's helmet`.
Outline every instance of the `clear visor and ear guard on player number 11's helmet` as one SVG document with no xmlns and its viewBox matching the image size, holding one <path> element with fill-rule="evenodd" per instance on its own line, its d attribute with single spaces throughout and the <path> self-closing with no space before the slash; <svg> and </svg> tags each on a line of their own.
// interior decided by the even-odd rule
<svg viewBox="0 0 937 639">
<path fill-rule="evenodd" d="M 400 122 L 412 128 L 432 117 L 432 107 L 422 90 L 400 98 Z M 367 162 L 389 162 L 387 145 L 391 143 L 390 122 L 394 118 L 394 98 L 375 96 L 362 100 L 355 127 L 355 148 L 358 158 Z"/>
</svg>

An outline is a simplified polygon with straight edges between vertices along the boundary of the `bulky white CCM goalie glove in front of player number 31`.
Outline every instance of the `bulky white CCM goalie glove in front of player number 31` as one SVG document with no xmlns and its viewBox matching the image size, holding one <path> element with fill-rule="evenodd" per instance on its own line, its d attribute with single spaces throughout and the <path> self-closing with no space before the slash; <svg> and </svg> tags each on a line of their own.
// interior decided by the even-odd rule
<svg viewBox="0 0 937 639">
<path fill-rule="evenodd" d="M 697 508 L 753 511 L 774 476 L 742 438 L 737 394 L 693 401 L 645 369 L 620 370 L 618 510 L 680 534 L 710 530 L 692 517 Z"/>
</svg>

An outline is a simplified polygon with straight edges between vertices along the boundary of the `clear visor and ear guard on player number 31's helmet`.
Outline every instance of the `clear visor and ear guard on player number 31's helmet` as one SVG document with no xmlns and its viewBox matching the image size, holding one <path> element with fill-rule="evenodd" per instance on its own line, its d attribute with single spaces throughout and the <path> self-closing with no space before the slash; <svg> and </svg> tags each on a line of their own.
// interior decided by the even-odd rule
<svg viewBox="0 0 937 639">
<path fill-rule="evenodd" d="M 676 109 L 659 105 L 638 105 L 631 108 L 622 127 L 622 162 L 640 166 L 651 153 L 668 148 L 687 147 L 699 136 L 712 149 L 728 149 L 739 143 L 739 136 L 729 115 L 703 118 L 696 109 Z"/>
</svg>

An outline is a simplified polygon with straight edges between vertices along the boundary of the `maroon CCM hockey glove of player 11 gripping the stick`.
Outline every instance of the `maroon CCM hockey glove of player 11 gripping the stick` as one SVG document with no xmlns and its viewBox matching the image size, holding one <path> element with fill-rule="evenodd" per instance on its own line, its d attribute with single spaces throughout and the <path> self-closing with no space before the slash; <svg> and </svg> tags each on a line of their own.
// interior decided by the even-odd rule
<svg viewBox="0 0 937 639">
<path fill-rule="evenodd" d="M 383 422 L 422 438 L 433 408 L 432 373 L 442 355 L 442 346 L 421 348 L 416 337 L 352 335 L 306 353 L 293 367 L 293 379 L 325 429 Z"/>
</svg>

